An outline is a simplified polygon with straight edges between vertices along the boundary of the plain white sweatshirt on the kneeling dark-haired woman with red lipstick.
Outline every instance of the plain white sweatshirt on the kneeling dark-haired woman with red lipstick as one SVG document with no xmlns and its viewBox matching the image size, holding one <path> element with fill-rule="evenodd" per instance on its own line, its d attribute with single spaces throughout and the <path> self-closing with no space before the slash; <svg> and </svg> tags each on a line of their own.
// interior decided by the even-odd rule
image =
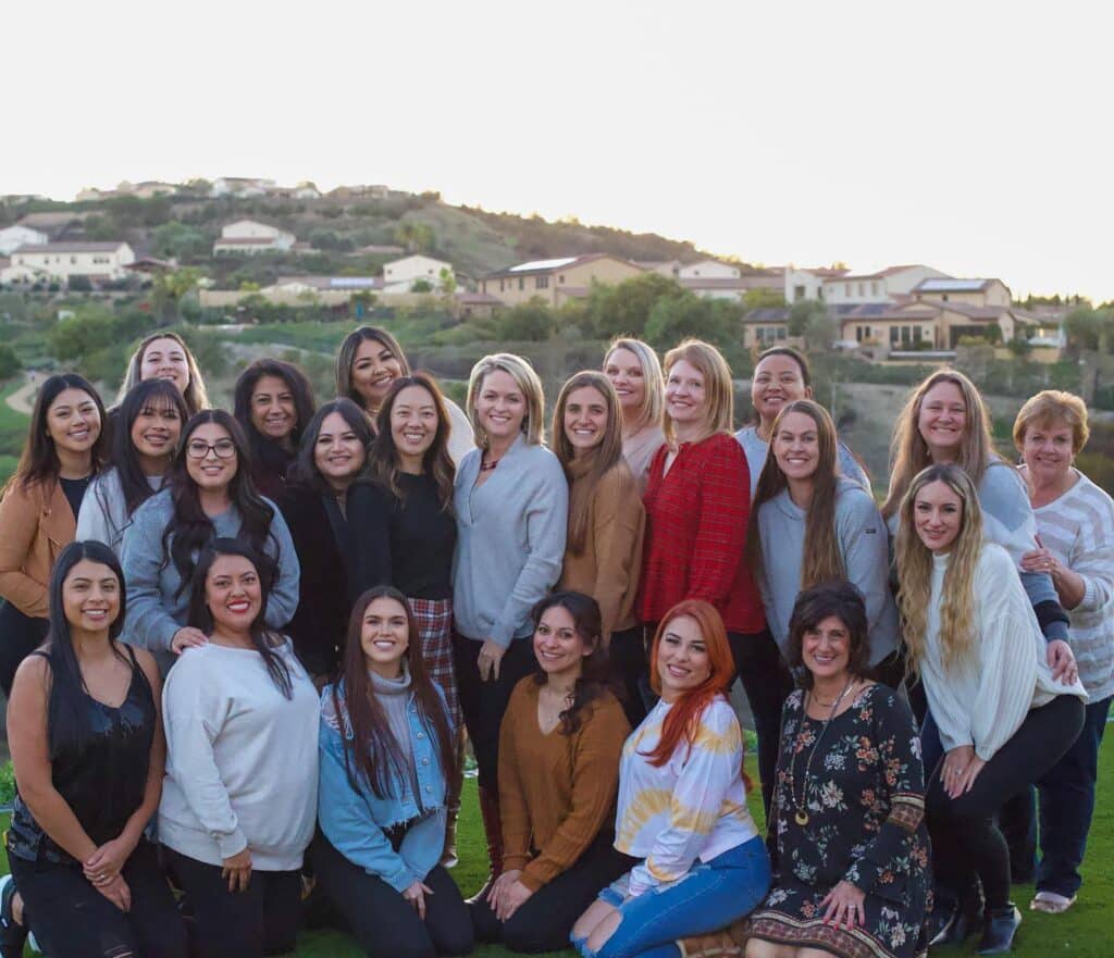
<svg viewBox="0 0 1114 958">
<path fill-rule="evenodd" d="M 317 811 L 317 693 L 287 641 L 286 698 L 254 649 L 186 651 L 163 687 L 167 761 L 159 840 L 219 866 L 248 848 L 252 867 L 294 871 Z"/>
</svg>

